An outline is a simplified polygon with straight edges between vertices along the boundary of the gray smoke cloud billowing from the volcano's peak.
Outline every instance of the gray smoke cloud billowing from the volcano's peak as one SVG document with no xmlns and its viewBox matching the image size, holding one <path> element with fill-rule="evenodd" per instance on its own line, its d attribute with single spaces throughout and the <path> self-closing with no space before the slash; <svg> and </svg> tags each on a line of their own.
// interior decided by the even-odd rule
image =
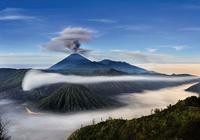
<svg viewBox="0 0 200 140">
<path fill-rule="evenodd" d="M 42 47 L 57 52 L 87 53 L 90 50 L 81 48 L 81 44 L 90 41 L 94 33 L 95 31 L 88 28 L 67 27 Z"/>
</svg>

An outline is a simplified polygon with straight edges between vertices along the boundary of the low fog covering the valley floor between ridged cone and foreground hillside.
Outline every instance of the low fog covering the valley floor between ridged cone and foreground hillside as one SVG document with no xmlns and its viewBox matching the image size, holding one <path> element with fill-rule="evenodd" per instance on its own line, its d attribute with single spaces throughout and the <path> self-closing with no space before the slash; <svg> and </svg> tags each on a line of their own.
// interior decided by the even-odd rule
<svg viewBox="0 0 200 140">
<path fill-rule="evenodd" d="M 151 113 L 151 109 L 165 108 L 179 99 L 197 95 L 184 91 L 192 84 L 157 91 L 145 91 L 119 97 L 128 106 L 71 114 L 28 113 L 25 105 L 18 105 L 8 100 L 0 100 L 0 111 L 3 118 L 9 121 L 8 132 L 13 140 L 66 140 L 76 129 L 87 124 L 113 118 L 134 118 Z"/>
</svg>

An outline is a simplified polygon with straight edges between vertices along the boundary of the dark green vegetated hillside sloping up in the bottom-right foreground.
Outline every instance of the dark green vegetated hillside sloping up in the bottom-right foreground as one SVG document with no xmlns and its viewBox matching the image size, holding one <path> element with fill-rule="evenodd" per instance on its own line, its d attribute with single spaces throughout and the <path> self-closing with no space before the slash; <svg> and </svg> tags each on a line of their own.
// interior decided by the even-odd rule
<svg viewBox="0 0 200 140">
<path fill-rule="evenodd" d="M 75 131 L 68 140 L 199 140 L 200 98 L 132 120 L 109 119 Z"/>
</svg>

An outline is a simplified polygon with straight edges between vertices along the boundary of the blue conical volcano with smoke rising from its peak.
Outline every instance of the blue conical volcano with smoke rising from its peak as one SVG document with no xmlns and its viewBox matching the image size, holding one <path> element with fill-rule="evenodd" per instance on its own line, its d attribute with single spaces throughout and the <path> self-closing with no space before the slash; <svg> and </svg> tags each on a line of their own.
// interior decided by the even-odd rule
<svg viewBox="0 0 200 140">
<path fill-rule="evenodd" d="M 50 67 L 49 70 L 65 74 L 78 75 L 121 73 L 99 62 L 90 61 L 78 53 L 71 54 L 62 61 Z"/>
</svg>

